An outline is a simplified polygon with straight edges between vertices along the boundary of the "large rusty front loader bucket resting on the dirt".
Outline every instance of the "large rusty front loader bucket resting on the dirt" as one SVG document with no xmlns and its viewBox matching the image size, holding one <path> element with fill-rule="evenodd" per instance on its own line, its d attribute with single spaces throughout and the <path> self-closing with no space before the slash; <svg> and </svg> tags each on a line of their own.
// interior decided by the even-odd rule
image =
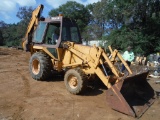
<svg viewBox="0 0 160 120">
<path fill-rule="evenodd" d="M 148 71 L 122 78 L 107 90 L 107 102 L 114 110 L 140 117 L 154 102 L 154 90 L 146 81 Z"/>
</svg>

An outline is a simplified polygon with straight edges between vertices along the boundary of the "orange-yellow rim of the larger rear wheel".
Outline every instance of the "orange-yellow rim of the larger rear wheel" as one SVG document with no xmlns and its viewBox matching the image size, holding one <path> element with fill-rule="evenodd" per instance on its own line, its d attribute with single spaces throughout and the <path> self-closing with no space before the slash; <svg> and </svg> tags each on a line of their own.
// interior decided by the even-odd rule
<svg viewBox="0 0 160 120">
<path fill-rule="evenodd" d="M 32 62 L 32 72 L 37 75 L 39 71 L 40 71 L 40 63 L 37 59 L 35 59 Z"/>
</svg>

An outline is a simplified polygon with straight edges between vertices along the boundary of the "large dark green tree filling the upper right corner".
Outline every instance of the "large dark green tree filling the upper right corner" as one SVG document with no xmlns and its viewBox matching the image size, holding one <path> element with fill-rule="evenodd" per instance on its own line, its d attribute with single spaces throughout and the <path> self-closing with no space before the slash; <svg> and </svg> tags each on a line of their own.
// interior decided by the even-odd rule
<svg viewBox="0 0 160 120">
<path fill-rule="evenodd" d="M 113 4 L 114 2 L 114 4 Z M 160 51 L 160 2 L 158 0 L 112 0 L 119 16 L 107 16 L 120 26 L 105 38 L 110 44 L 124 50 L 132 45 L 136 53 L 148 55 Z M 120 20 L 119 20 L 120 19 Z"/>
</svg>

